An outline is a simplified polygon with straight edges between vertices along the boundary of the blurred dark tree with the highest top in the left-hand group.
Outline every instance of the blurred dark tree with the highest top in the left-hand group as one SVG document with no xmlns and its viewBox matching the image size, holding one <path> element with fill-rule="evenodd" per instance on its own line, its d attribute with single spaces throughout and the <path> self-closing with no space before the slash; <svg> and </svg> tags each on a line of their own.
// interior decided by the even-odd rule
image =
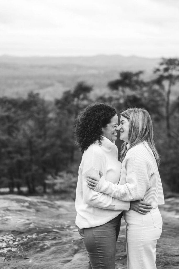
<svg viewBox="0 0 179 269">
<path fill-rule="evenodd" d="M 51 143 L 51 109 L 48 102 L 39 97 L 39 94 L 29 93 L 21 104 L 22 112 L 26 115 L 22 121 L 20 135 L 23 141 L 24 166 L 23 172 L 31 193 L 35 186 L 43 186 L 46 192 L 46 175 L 51 172 L 52 165 L 49 151 Z M 52 140 L 53 141 L 53 140 Z M 54 145 L 55 147 L 55 145 Z"/>
</svg>

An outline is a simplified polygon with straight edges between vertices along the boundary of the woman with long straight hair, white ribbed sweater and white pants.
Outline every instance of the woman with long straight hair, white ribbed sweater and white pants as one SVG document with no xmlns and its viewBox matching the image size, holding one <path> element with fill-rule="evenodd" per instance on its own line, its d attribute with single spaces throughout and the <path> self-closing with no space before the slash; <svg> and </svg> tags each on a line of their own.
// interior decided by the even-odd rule
<svg viewBox="0 0 179 269">
<path fill-rule="evenodd" d="M 124 211 L 128 269 L 155 269 L 156 243 L 162 233 L 162 217 L 158 204 L 164 204 L 162 183 L 158 171 L 160 158 L 155 147 L 150 114 L 142 108 L 130 108 L 121 113 L 120 140 L 123 140 L 120 161 L 122 168 L 118 184 L 88 178 L 88 187 L 122 201 L 145 199 L 152 204 L 150 213 L 141 215 Z"/>
</svg>

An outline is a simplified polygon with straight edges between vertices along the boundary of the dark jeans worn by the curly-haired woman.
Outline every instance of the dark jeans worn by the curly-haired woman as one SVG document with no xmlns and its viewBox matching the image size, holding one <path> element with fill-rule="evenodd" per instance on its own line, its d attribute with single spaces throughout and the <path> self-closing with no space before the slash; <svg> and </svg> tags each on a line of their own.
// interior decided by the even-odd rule
<svg viewBox="0 0 179 269">
<path fill-rule="evenodd" d="M 101 226 L 78 228 L 89 256 L 88 269 L 115 269 L 116 240 L 122 215 Z"/>
</svg>

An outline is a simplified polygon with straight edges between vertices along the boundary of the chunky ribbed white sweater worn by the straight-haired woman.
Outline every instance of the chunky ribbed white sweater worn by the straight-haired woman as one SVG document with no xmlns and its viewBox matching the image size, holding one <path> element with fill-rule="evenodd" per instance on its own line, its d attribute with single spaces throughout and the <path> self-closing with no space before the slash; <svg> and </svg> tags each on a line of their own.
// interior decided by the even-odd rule
<svg viewBox="0 0 179 269">
<path fill-rule="evenodd" d="M 119 184 L 105 181 L 105 176 L 95 188 L 123 201 L 145 199 L 156 208 L 164 204 L 162 183 L 157 163 L 148 143 L 130 148 L 122 162 Z"/>
</svg>

